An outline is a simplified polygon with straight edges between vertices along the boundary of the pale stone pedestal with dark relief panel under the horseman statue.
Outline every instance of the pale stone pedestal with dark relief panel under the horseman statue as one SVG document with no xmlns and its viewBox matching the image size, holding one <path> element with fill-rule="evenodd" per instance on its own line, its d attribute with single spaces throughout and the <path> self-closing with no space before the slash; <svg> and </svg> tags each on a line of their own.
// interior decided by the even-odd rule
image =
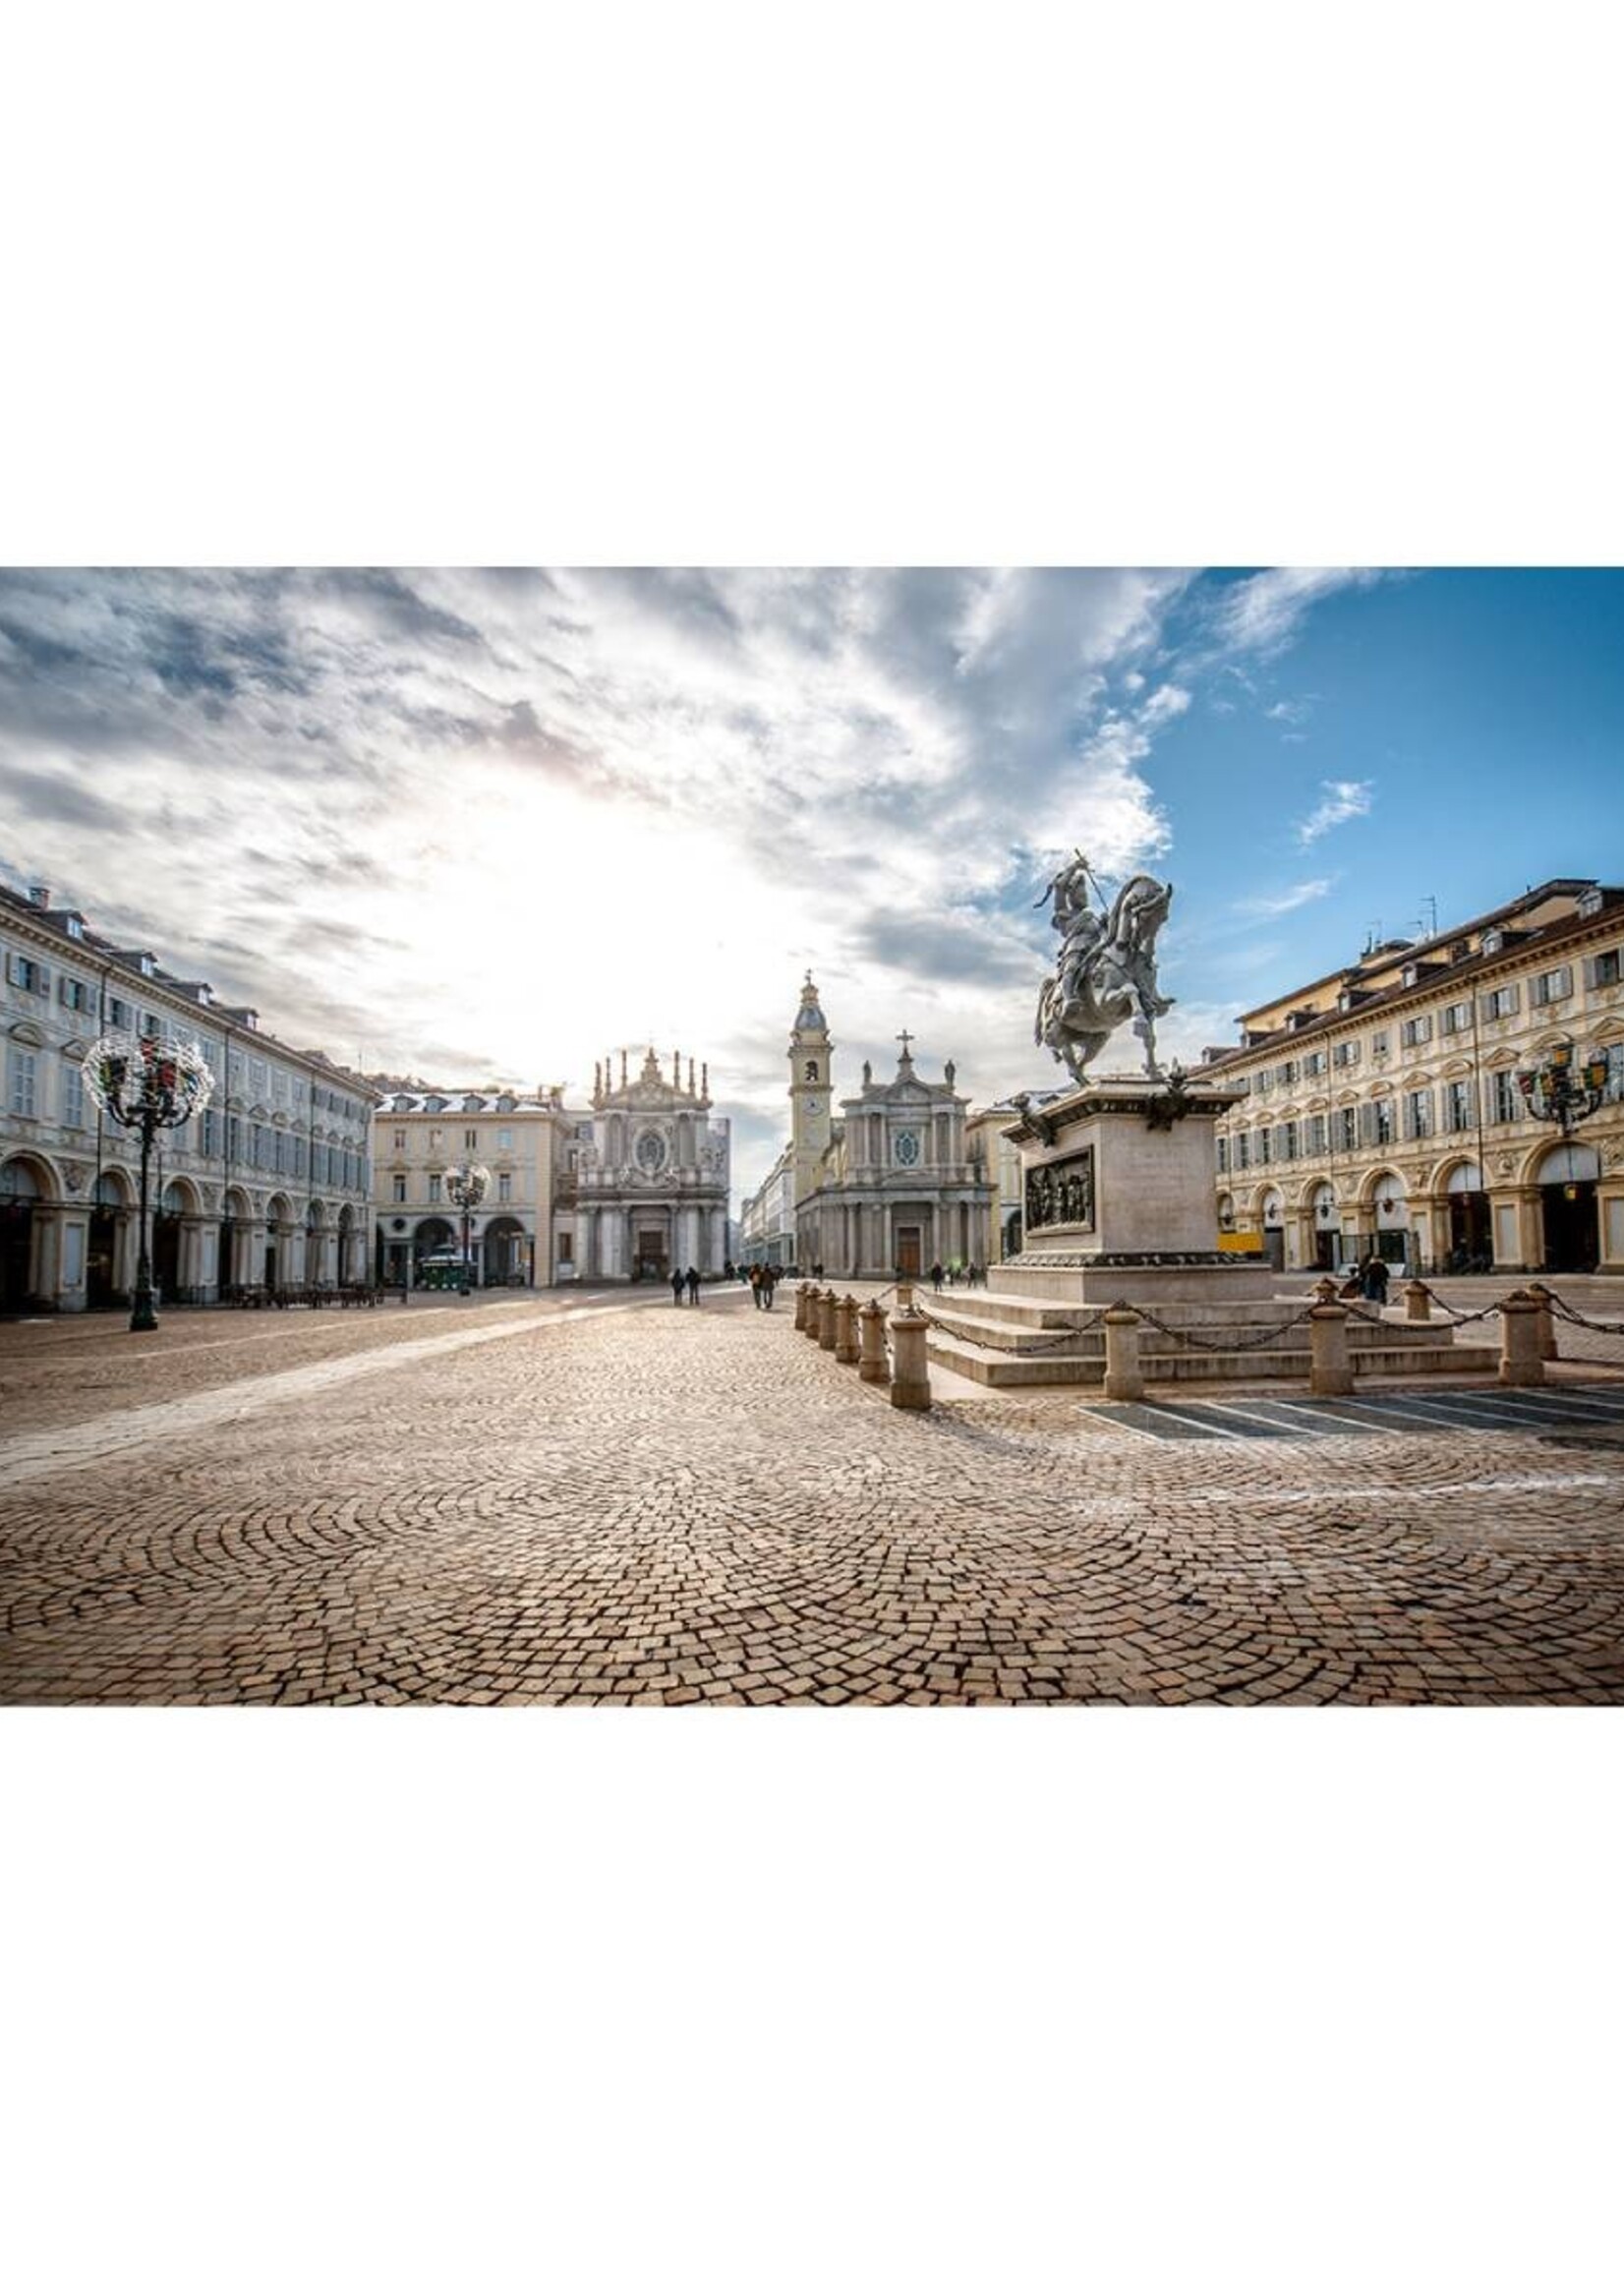
<svg viewBox="0 0 1624 2274">
<path fill-rule="evenodd" d="M 1021 1253 L 996 1294 L 1053 1303 L 1201 1303 L 1267 1294 L 1269 1264 L 1217 1244 L 1212 1121 L 1237 1092 L 1092 1082 L 1028 1110 Z"/>
</svg>

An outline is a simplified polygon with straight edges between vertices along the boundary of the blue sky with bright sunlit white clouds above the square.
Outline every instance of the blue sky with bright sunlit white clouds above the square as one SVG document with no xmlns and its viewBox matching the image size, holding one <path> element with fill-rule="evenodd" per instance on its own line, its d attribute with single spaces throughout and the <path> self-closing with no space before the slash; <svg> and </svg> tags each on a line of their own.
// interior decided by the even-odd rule
<svg viewBox="0 0 1624 2274">
<path fill-rule="evenodd" d="M 1624 880 L 1622 632 L 1601 571 L 9 571 L 0 873 L 375 1071 L 707 1057 L 741 1194 L 807 966 L 839 1087 L 903 1023 L 1058 1078 L 1071 846 L 1171 875 L 1185 1057 L 1428 901 Z"/>
</svg>

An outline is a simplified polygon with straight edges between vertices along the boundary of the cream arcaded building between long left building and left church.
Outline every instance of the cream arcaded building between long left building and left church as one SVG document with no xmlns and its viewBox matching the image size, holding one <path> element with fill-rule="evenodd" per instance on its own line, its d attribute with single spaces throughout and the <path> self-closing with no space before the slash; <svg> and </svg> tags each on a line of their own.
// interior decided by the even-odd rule
<svg viewBox="0 0 1624 2274">
<path fill-rule="evenodd" d="M 560 1132 L 573 1128 L 560 1089 L 389 1087 L 375 1114 L 373 1207 L 378 1276 L 416 1285 L 430 1262 L 462 1258 L 462 1210 L 446 1178 L 478 1164 L 487 1189 L 471 1212 L 475 1287 L 553 1283 L 553 1182 Z M 566 1269 L 564 1278 L 573 1273 Z"/>
</svg>

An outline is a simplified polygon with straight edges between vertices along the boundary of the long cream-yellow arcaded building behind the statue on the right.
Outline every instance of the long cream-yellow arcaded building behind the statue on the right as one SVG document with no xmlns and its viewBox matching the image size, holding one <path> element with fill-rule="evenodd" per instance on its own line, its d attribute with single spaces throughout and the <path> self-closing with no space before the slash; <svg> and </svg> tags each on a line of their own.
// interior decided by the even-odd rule
<svg viewBox="0 0 1624 2274">
<path fill-rule="evenodd" d="M 1622 960 L 1624 887 L 1556 878 L 1249 1012 L 1199 1076 L 1246 1089 L 1219 1226 L 1285 1271 L 1624 1271 Z M 1551 1053 L 1606 1060 L 1569 1137 L 1526 1096 Z"/>
</svg>

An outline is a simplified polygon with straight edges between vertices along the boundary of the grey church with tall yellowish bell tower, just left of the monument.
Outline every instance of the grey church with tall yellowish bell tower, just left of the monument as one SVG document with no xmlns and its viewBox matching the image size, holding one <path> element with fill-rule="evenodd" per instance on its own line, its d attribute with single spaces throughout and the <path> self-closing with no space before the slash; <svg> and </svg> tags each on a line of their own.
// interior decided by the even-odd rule
<svg viewBox="0 0 1624 2274">
<path fill-rule="evenodd" d="M 953 1060 L 928 1082 L 898 1037 L 889 1082 L 835 1103 L 835 1037 L 812 973 L 789 1032 L 789 1144 L 744 1207 L 744 1260 L 828 1278 L 919 1278 L 987 1262 L 989 1187 L 964 1142 Z"/>
</svg>

